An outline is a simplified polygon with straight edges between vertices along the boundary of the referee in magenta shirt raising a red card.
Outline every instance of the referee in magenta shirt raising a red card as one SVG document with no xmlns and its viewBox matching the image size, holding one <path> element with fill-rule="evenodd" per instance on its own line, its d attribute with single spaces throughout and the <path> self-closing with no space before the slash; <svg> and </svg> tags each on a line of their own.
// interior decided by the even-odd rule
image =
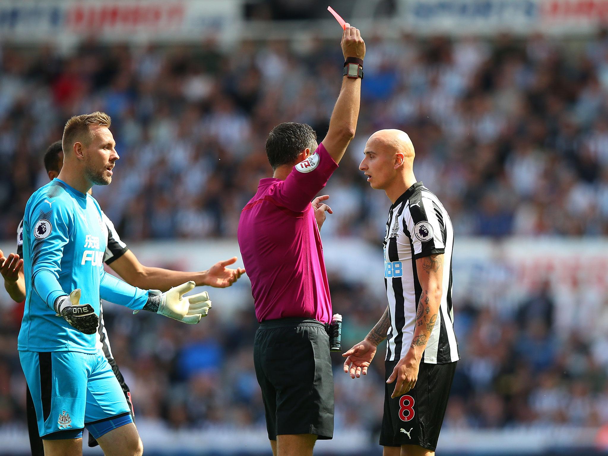
<svg viewBox="0 0 608 456">
<path fill-rule="evenodd" d="M 334 430 L 329 337 L 330 289 L 315 212 L 353 139 L 359 116 L 365 43 L 346 24 L 342 89 L 330 127 L 317 146 L 308 125 L 281 123 L 266 140 L 274 174 L 241 212 L 238 243 L 251 280 L 255 314 L 254 364 L 274 456 L 312 455 L 317 438 Z M 311 153 L 314 151 L 314 153 Z M 324 215 L 324 214 L 322 214 Z"/>
</svg>

